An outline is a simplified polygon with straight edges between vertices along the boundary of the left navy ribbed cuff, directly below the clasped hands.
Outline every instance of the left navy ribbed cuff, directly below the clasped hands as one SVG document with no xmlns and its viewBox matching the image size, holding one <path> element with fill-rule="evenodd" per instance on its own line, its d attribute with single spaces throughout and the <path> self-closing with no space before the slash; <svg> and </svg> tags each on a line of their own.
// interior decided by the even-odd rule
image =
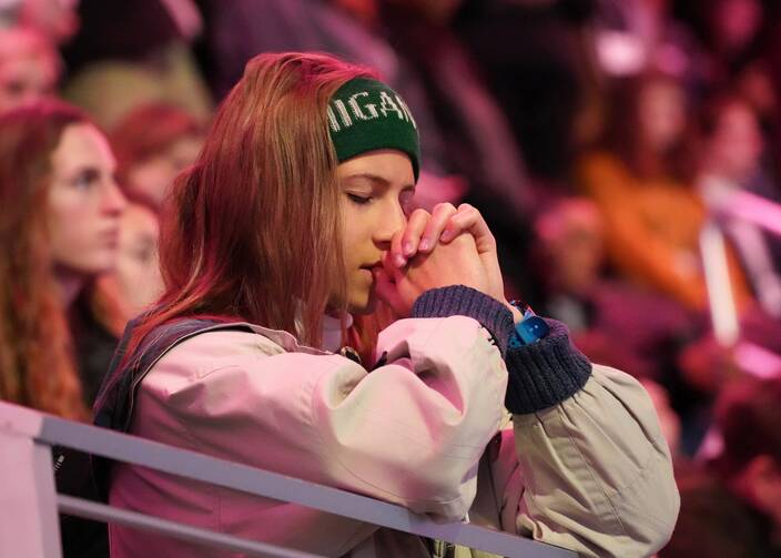
<svg viewBox="0 0 781 558">
<path fill-rule="evenodd" d="M 413 317 L 468 316 L 477 319 L 494 337 L 501 356 L 515 331 L 513 313 L 499 301 L 464 285 L 432 288 L 413 304 Z"/>
</svg>

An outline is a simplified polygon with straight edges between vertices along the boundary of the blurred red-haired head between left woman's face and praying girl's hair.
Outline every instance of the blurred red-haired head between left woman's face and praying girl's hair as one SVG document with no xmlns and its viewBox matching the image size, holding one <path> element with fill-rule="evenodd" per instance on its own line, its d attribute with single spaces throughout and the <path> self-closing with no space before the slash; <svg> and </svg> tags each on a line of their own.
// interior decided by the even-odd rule
<svg viewBox="0 0 781 558">
<path fill-rule="evenodd" d="M 195 161 L 203 134 L 203 124 L 170 104 L 132 111 L 111 134 L 122 189 L 160 210 L 173 179 Z"/>
</svg>

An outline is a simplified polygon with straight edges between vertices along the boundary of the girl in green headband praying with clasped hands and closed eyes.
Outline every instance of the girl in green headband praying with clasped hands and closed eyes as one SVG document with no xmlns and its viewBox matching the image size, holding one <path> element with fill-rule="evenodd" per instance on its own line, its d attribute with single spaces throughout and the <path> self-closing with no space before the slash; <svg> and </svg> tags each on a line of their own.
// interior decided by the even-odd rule
<svg viewBox="0 0 781 558">
<path fill-rule="evenodd" d="M 653 554 L 678 496 L 646 393 L 558 323 L 521 341 L 514 322 L 534 321 L 505 301 L 479 213 L 408 214 L 418 168 L 415 120 L 371 72 L 253 59 L 174 185 L 166 290 L 125 332 L 97 423 L 585 556 Z M 354 334 L 378 301 L 405 318 Z M 122 508 L 325 556 L 428 556 L 353 519 L 98 465 Z M 121 526 L 111 547 L 216 556 Z"/>
</svg>

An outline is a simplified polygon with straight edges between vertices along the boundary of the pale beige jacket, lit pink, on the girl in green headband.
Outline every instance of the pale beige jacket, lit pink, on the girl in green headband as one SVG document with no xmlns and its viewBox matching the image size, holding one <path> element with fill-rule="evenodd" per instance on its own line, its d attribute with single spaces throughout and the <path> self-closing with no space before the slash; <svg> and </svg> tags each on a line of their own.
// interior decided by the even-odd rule
<svg viewBox="0 0 781 558">
<path fill-rule="evenodd" d="M 623 373 L 595 366 L 575 396 L 507 427 L 505 363 L 470 317 L 393 324 L 378 342 L 388 364 L 371 373 L 253 329 L 205 333 L 166 354 L 141 384 L 131 433 L 443 519 L 471 507 L 473 521 L 584 556 L 649 556 L 672 531 L 669 452 L 650 399 Z M 325 556 L 426 556 L 403 534 L 131 465 L 114 468 L 110 500 Z M 114 558 L 231 556 L 116 525 L 110 540 Z"/>
</svg>

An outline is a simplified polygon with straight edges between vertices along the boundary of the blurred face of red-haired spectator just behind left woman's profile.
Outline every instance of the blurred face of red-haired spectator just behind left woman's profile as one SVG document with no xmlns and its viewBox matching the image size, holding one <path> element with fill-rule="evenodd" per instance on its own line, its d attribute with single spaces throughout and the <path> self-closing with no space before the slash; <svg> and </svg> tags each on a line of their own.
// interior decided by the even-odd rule
<svg viewBox="0 0 781 558">
<path fill-rule="evenodd" d="M 125 187 L 160 207 L 173 180 L 195 162 L 202 145 L 200 135 L 175 140 L 165 150 L 133 164 L 128 171 Z"/>
</svg>

